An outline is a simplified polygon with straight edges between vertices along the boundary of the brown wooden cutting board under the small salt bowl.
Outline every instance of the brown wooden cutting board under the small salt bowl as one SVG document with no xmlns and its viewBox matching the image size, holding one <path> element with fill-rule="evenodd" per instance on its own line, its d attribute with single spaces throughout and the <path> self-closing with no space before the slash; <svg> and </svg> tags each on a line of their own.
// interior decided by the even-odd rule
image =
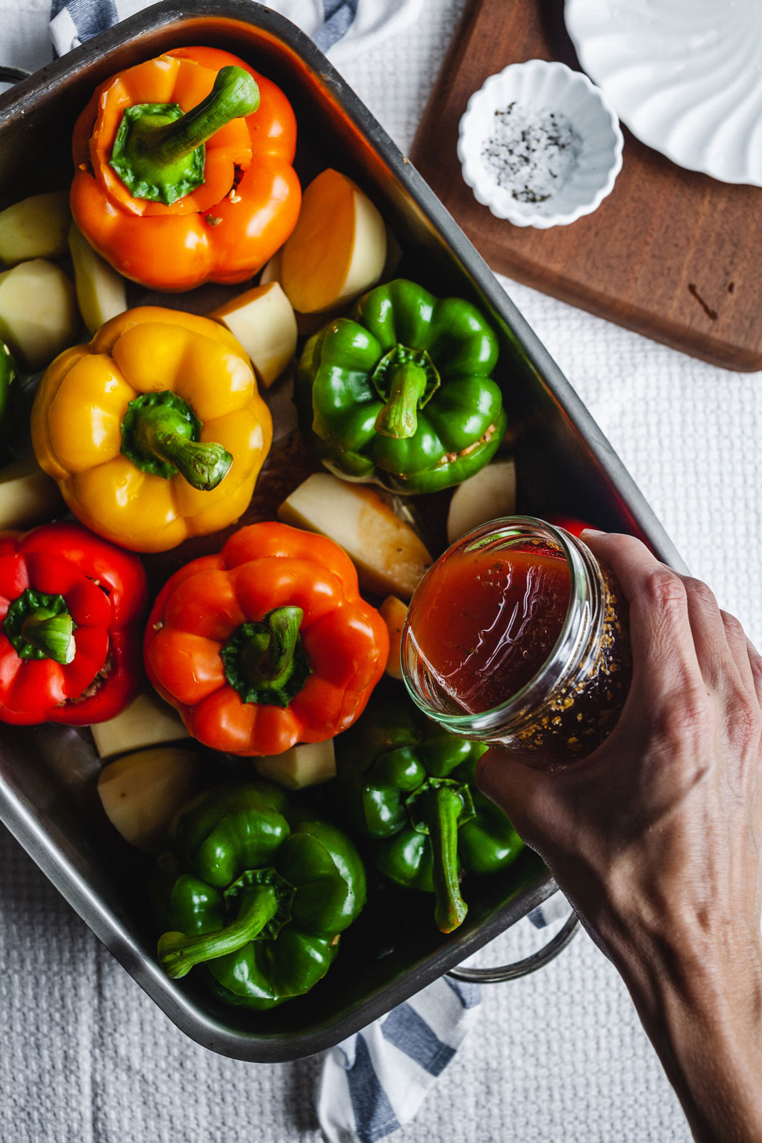
<svg viewBox="0 0 762 1143">
<path fill-rule="evenodd" d="M 492 270 L 729 369 L 762 369 L 762 189 L 683 170 L 627 130 L 623 169 L 592 215 L 542 231 L 495 218 L 456 154 L 488 75 L 524 59 L 580 70 L 563 0 L 468 0 L 411 161 Z"/>
</svg>

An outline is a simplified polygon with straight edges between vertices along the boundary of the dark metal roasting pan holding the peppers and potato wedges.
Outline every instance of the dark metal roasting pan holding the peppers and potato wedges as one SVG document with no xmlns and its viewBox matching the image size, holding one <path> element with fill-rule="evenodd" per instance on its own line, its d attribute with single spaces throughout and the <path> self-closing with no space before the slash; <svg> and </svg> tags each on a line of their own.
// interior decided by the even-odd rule
<svg viewBox="0 0 762 1143">
<path fill-rule="evenodd" d="M 327 166 L 376 202 L 403 256 L 400 273 L 438 295 L 468 297 L 502 341 L 497 379 L 515 434 L 521 510 L 564 512 L 645 539 L 682 561 L 637 488 L 488 266 L 410 162 L 307 37 L 251 0 L 175 0 L 149 8 L 0 97 L 0 206 L 62 187 L 73 121 L 119 69 L 183 45 L 225 48 L 282 87 L 299 129 L 303 185 Z M 178 304 L 175 301 L 174 304 Z M 183 550 L 178 550 L 182 562 Z M 190 558 L 187 554 L 185 559 Z M 343 938 L 339 967 L 307 996 L 270 1013 L 222 1005 L 191 980 L 170 982 L 126 848 L 99 815 L 99 764 L 89 734 L 41 726 L 0 729 L 0 820 L 137 983 L 198 1042 L 234 1058 L 274 1062 L 329 1047 L 452 969 L 554 892 L 526 852 L 506 873 L 468 885 L 457 933 L 434 929 L 419 898 L 388 889 Z"/>
</svg>

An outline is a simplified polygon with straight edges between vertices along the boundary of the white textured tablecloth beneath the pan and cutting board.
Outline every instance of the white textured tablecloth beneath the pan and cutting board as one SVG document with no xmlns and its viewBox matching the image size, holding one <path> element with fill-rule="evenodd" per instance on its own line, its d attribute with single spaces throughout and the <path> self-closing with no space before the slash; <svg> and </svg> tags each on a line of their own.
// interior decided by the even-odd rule
<svg viewBox="0 0 762 1143">
<path fill-rule="evenodd" d="M 409 146 L 463 0 L 342 71 Z M 5 19 L 17 9 L 6 6 Z M 47 3 L 38 46 L 45 59 Z M 37 14 L 34 14 L 37 15 Z M 32 31 L 38 24 L 30 17 Z M 0 33 L 0 57 L 2 37 Z M 1 58 L 0 58 L 1 62 Z M 725 373 L 526 287 L 505 287 L 576 386 L 692 572 L 762 644 L 762 377 Z M 512 932 L 484 961 L 538 943 Z M 316 1143 L 319 1060 L 244 1064 L 181 1033 L 0 829 L 2 1143 Z M 617 974 L 587 937 L 486 990 L 479 1031 L 407 1143 L 687 1143 Z"/>
</svg>

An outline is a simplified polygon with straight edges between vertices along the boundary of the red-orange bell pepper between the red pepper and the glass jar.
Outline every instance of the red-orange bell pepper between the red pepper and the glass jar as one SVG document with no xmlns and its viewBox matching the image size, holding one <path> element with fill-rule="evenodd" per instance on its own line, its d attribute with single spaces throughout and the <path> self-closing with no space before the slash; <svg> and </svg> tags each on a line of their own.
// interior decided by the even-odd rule
<svg viewBox="0 0 762 1143">
<path fill-rule="evenodd" d="M 348 555 L 284 523 L 241 528 L 167 582 L 145 633 L 149 678 L 189 732 L 231 754 L 323 742 L 362 713 L 388 656 Z"/>
</svg>

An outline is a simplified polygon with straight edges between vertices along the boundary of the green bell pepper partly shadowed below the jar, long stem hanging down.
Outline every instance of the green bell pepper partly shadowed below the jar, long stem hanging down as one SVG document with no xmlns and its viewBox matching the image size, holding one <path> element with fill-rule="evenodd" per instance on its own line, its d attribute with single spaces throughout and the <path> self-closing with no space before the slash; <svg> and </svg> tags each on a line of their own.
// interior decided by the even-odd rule
<svg viewBox="0 0 762 1143">
<path fill-rule="evenodd" d="M 336 740 L 347 821 L 372 840 L 382 873 L 435 894 L 442 933 L 466 916 L 460 871 L 496 873 L 523 849 L 503 810 L 474 784 L 486 749 L 425 721 L 403 697 L 378 692 Z"/>
</svg>

